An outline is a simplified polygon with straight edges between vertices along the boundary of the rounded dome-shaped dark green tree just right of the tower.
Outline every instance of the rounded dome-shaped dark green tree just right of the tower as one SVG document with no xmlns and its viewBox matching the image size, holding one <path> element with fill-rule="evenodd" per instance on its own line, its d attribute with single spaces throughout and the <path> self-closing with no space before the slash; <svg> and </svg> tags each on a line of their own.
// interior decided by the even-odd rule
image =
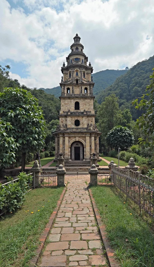
<svg viewBox="0 0 154 267">
<path fill-rule="evenodd" d="M 134 137 L 132 131 L 119 125 L 108 132 L 106 141 L 110 147 L 114 147 L 116 150 L 120 147 L 121 150 L 124 150 L 125 147 L 128 148 L 133 144 Z"/>
</svg>

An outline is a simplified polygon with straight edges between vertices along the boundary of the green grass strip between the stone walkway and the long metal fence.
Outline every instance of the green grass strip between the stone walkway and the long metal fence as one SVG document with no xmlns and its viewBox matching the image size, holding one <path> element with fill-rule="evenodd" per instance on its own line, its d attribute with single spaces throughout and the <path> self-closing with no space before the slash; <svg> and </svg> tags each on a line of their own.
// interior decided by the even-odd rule
<svg viewBox="0 0 154 267">
<path fill-rule="evenodd" d="M 153 267 L 154 237 L 143 217 L 124 202 L 114 187 L 91 190 L 120 266 Z"/>
</svg>

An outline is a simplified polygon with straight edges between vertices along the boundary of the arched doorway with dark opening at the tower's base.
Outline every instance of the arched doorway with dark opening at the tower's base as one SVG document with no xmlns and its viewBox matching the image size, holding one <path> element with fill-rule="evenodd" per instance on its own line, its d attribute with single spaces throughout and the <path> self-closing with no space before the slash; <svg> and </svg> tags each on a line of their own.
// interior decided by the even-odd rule
<svg viewBox="0 0 154 267">
<path fill-rule="evenodd" d="M 75 141 L 71 144 L 71 160 L 83 160 L 84 159 L 84 146 L 82 142 Z"/>
</svg>

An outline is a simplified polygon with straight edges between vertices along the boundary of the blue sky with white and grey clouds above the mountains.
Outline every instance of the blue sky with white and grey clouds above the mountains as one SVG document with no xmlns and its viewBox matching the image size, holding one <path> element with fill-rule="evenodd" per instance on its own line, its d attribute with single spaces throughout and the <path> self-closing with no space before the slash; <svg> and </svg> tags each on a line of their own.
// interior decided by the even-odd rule
<svg viewBox="0 0 154 267">
<path fill-rule="evenodd" d="M 154 54 L 153 0 L 0 0 L 0 64 L 30 88 L 59 85 L 76 33 L 94 73 Z"/>
</svg>

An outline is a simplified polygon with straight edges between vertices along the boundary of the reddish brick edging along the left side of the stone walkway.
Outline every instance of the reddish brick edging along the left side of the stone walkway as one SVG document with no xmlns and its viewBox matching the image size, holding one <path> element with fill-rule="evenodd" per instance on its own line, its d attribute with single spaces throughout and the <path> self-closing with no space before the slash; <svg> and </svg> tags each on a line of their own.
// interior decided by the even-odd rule
<svg viewBox="0 0 154 267">
<path fill-rule="evenodd" d="M 60 195 L 60 198 L 59 198 L 59 200 L 57 202 L 57 207 L 52 212 L 52 214 L 51 214 L 51 216 L 49 218 L 49 221 L 48 221 L 48 223 L 47 223 L 47 225 L 46 225 L 46 227 L 45 227 L 45 229 L 43 231 L 43 234 L 41 235 L 41 237 L 39 239 L 39 241 L 41 242 L 41 245 L 39 246 L 39 248 L 36 251 L 36 256 L 30 261 L 29 267 L 36 267 L 37 266 L 37 263 L 38 263 L 39 258 L 41 256 L 41 252 L 42 252 L 42 250 L 44 248 L 44 245 L 45 245 L 45 241 L 46 241 L 46 239 L 47 239 L 47 237 L 48 237 L 48 235 L 50 233 L 50 230 L 52 228 L 52 224 L 54 222 L 54 219 L 56 217 L 57 211 L 58 211 L 58 209 L 60 207 L 60 204 L 62 202 L 62 199 L 63 199 L 63 196 L 65 194 L 66 188 L 67 187 L 65 187 L 65 189 L 62 192 L 62 194 Z"/>
</svg>

